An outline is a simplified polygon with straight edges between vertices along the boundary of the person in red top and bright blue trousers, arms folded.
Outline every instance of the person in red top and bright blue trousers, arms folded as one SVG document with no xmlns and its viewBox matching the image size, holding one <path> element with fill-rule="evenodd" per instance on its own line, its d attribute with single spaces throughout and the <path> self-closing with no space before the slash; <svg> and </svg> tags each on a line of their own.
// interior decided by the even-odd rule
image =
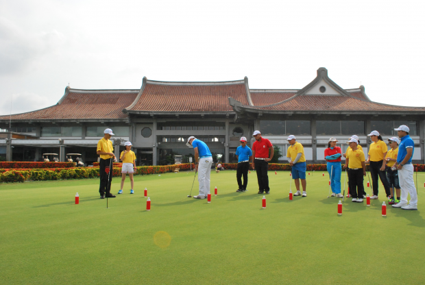
<svg viewBox="0 0 425 285">
<path fill-rule="evenodd" d="M 328 148 L 325 149 L 325 159 L 328 162 L 326 168 L 328 169 L 330 188 L 332 188 L 332 197 L 342 198 L 341 195 L 341 156 L 342 151 L 337 147 L 338 140 L 330 138 Z"/>
</svg>

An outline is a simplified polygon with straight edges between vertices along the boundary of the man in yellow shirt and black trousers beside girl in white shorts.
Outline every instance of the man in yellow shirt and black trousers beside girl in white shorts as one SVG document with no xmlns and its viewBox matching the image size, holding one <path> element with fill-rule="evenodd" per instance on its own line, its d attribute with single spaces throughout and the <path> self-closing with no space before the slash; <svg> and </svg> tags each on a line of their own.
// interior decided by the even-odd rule
<svg viewBox="0 0 425 285">
<path fill-rule="evenodd" d="M 114 147 L 110 138 L 114 136 L 112 129 L 105 129 L 104 137 L 97 143 L 97 155 L 100 156 L 99 161 L 99 177 L 100 177 L 100 199 L 104 199 L 105 195 L 108 198 L 114 198 L 115 195 L 110 193 L 110 184 L 112 183 L 112 160 L 117 161 L 114 155 Z M 106 168 L 109 167 L 110 173 L 106 173 Z M 108 184 L 109 179 L 109 184 Z"/>
</svg>

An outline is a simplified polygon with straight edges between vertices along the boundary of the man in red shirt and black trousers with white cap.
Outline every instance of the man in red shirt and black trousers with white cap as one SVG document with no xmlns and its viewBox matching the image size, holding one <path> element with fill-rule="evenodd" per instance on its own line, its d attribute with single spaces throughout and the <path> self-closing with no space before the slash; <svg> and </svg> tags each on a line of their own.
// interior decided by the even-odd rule
<svg viewBox="0 0 425 285">
<path fill-rule="evenodd" d="M 274 155 L 274 148 L 270 140 L 261 137 L 260 131 L 255 131 L 252 136 L 255 138 L 255 142 L 252 144 L 252 157 L 254 158 L 252 169 L 255 169 L 257 173 L 258 194 L 270 194 L 269 175 L 267 171 L 269 170 L 269 161 Z"/>
</svg>

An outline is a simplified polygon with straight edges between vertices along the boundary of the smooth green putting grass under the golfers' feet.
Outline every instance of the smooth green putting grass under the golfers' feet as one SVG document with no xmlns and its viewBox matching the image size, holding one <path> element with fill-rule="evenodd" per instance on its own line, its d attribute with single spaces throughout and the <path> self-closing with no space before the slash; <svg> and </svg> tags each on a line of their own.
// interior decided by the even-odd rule
<svg viewBox="0 0 425 285">
<path fill-rule="evenodd" d="M 265 210 L 254 171 L 247 193 L 235 192 L 236 171 L 211 173 L 210 204 L 186 197 L 193 175 L 136 176 L 134 195 L 127 178 L 109 209 L 98 179 L 1 184 L 0 284 L 425 283 L 425 173 L 420 210 L 387 217 L 383 186 L 371 207 L 345 199 L 338 216 L 326 173 L 289 201 L 289 173 L 269 172 Z"/>
</svg>

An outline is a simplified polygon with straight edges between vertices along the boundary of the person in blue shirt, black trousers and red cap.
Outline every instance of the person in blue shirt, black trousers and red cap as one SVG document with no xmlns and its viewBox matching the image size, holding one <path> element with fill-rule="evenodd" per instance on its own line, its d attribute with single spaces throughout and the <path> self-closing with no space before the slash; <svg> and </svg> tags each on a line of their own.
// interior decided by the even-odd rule
<svg viewBox="0 0 425 285">
<path fill-rule="evenodd" d="M 238 167 L 236 169 L 236 180 L 238 190 L 236 192 L 246 192 L 248 184 L 248 171 L 250 170 L 250 160 L 252 160 L 252 150 L 247 146 L 247 138 L 241 138 L 241 145 L 236 149 L 236 158 L 238 158 Z M 243 176 L 243 183 L 242 183 Z"/>
</svg>

